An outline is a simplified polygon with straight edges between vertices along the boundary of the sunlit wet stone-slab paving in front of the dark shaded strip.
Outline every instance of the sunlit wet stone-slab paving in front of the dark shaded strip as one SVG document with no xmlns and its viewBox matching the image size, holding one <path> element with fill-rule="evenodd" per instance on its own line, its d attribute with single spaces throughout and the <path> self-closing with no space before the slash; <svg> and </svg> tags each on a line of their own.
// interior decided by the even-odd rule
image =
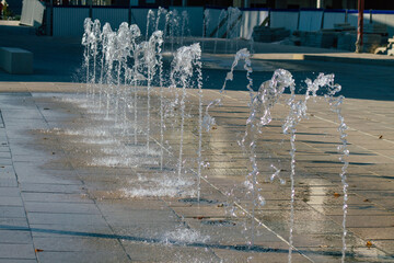
<svg viewBox="0 0 394 263">
<path fill-rule="evenodd" d="M 176 119 L 164 136 L 160 172 L 157 111 L 151 113 L 152 152 L 144 151 L 144 93 L 136 146 L 132 128 L 125 136 L 114 121 L 104 119 L 85 102 L 84 90 L 66 82 L 0 82 L 0 262 L 288 261 L 285 104 L 278 104 L 258 137 L 258 182 L 266 204 L 252 218 L 243 186 L 251 164 L 236 142 L 248 115 L 246 92 L 228 91 L 223 105 L 211 111 L 217 125 L 204 135 L 202 157 L 209 165 L 202 170 L 197 204 L 187 198 L 196 180 L 196 90 L 188 91 L 185 126 L 184 165 L 192 170 L 182 180 L 173 174 Z M 218 91 L 204 91 L 205 104 L 217 98 Z M 157 95 L 152 100 L 158 103 Z M 391 101 L 356 99 L 344 104 L 350 150 L 346 262 L 394 261 L 393 106 Z M 309 104 L 309 119 L 297 132 L 292 261 L 340 262 L 339 136 L 324 99 Z M 269 181 L 270 164 L 282 170 L 285 185 Z M 251 250 L 252 220 L 258 235 Z"/>
</svg>

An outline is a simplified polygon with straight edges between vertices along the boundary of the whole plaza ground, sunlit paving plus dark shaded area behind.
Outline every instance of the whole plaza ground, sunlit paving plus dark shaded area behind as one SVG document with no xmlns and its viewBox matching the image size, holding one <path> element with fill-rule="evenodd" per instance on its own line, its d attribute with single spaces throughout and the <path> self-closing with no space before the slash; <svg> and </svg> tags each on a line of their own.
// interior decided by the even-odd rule
<svg viewBox="0 0 394 263">
<path fill-rule="evenodd" d="M 274 122 L 258 140 L 263 174 L 259 183 L 266 205 L 255 218 L 262 222 L 257 249 L 245 250 L 250 233 L 243 231 L 243 224 L 251 219 L 241 211 L 247 209 L 248 199 L 234 191 L 240 209 L 237 217 L 230 217 L 224 194 L 241 185 L 250 172 L 248 158 L 236 145 L 248 115 L 248 93 L 228 91 L 223 106 L 212 112 L 218 125 L 204 140 L 204 155 L 210 165 L 202 170 L 201 183 L 201 196 L 209 202 L 185 202 L 183 196 L 130 197 L 125 195 L 125 188 L 160 179 L 157 164 L 149 160 L 131 167 L 91 164 L 104 157 L 103 146 L 90 144 L 83 130 L 113 123 L 97 119 L 83 104 L 76 103 L 84 98 L 81 94 L 85 90 L 77 82 L 78 73 L 74 79 L 70 77 L 81 64 L 79 41 L 0 37 L 4 46 L 22 47 L 35 55 L 33 76 L 0 72 L 0 262 L 287 261 L 290 184 L 266 181 L 273 173 L 269 164 L 278 160 L 283 167 L 289 164 L 289 138 L 281 135 L 280 127 L 288 113 L 283 104 L 276 107 Z M 346 259 L 393 262 L 392 59 L 279 45 L 262 45 L 259 54 L 265 53 L 276 55 L 255 55 L 252 66 L 256 84 L 259 78 L 269 79 L 276 68 L 288 69 L 300 80 L 318 72 L 336 75 L 347 98 L 343 115 L 349 126 Z M 315 54 L 315 60 L 298 60 L 299 54 Z M 216 72 L 206 82 L 219 82 L 220 88 L 232 57 L 204 55 L 204 60 L 206 72 Z M 235 77 L 243 76 L 239 71 Z M 241 87 L 234 89 L 244 89 L 243 82 L 233 84 Z M 79 95 L 71 95 L 76 93 Z M 188 94 L 189 113 L 196 116 L 196 91 L 189 90 Z M 204 91 L 205 104 L 218 96 L 218 90 Z M 143 108 L 143 93 L 140 98 Z M 152 117 L 158 117 L 157 112 Z M 151 144 L 155 147 L 158 127 L 152 127 Z M 185 156 L 189 160 L 196 153 L 195 128 L 196 119 L 192 117 L 185 130 Z M 169 130 L 165 137 L 176 146 L 179 135 Z M 143 138 L 141 134 L 138 139 Z M 121 141 L 121 149 L 134 147 Z M 297 135 L 293 262 L 340 261 L 343 186 L 338 144 L 336 115 L 323 99 L 310 103 L 309 119 L 299 124 Z M 283 170 L 286 178 L 289 169 Z M 147 182 L 137 180 L 141 174 Z"/>
</svg>

